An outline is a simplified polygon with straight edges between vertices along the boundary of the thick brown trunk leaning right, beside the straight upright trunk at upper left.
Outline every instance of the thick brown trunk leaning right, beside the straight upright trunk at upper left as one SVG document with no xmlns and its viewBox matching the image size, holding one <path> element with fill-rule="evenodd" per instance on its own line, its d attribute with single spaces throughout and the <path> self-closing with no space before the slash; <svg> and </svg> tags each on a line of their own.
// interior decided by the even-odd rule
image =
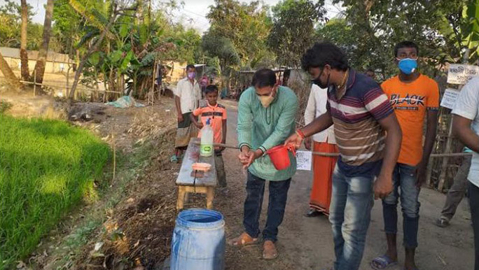
<svg viewBox="0 0 479 270">
<path fill-rule="evenodd" d="M 50 43 L 50 32 L 52 30 L 53 1 L 48 0 L 45 11 L 45 22 L 43 22 L 43 41 L 39 50 L 39 57 L 35 64 L 35 83 L 43 82 L 43 73 L 45 73 L 46 57 L 48 53 L 48 43 Z"/>
</svg>

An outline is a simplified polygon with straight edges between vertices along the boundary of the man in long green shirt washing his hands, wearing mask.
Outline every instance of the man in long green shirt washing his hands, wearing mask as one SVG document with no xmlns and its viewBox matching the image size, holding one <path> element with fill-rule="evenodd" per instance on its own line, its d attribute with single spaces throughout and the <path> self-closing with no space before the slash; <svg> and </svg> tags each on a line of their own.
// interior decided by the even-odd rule
<svg viewBox="0 0 479 270">
<path fill-rule="evenodd" d="M 244 232 L 230 244 L 248 246 L 258 242 L 259 216 L 268 180 L 270 199 L 263 229 L 263 258 L 271 260 L 278 255 L 275 242 L 278 226 L 283 221 L 291 177 L 296 173 L 296 158 L 289 153 L 290 166 L 278 171 L 265 152 L 282 145 L 295 132 L 298 99 L 291 89 L 277 85 L 271 69 L 256 71 L 251 85 L 242 93 L 238 104 L 237 132 L 241 149 L 238 157 L 244 169 L 248 169 Z"/>
</svg>

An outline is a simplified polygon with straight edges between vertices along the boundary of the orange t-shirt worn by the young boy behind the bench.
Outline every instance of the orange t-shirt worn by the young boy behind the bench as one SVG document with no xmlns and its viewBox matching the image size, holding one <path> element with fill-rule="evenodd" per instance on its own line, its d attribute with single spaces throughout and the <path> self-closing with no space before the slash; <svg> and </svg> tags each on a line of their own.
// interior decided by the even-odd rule
<svg viewBox="0 0 479 270">
<path fill-rule="evenodd" d="M 203 123 L 203 127 L 206 126 L 208 118 L 211 128 L 213 129 L 215 143 L 222 143 L 223 140 L 223 120 L 226 120 L 226 108 L 221 104 L 216 104 L 216 106 L 210 106 L 207 102 L 207 105 L 201 106 L 193 111 L 193 115 L 200 115 L 200 120 Z M 201 130 L 198 134 L 198 138 L 201 138 Z"/>
</svg>

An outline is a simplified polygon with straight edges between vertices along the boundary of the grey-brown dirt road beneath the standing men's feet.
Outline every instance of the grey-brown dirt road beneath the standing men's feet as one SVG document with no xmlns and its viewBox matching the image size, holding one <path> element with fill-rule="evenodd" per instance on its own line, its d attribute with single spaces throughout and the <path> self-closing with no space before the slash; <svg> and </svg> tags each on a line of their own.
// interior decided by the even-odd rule
<svg viewBox="0 0 479 270">
<path fill-rule="evenodd" d="M 237 113 L 234 107 L 228 110 L 228 144 L 236 144 Z M 230 194 L 216 195 L 215 208 L 225 215 L 226 234 L 236 236 L 242 232 L 244 182 L 246 176 L 237 161 L 237 150 L 225 150 L 223 158 Z M 280 257 L 274 261 L 261 259 L 261 246 L 226 250 L 226 269 L 328 269 L 334 260 L 331 226 L 326 217 L 305 218 L 310 194 L 312 173 L 298 171 L 293 177 L 289 190 L 284 222 L 279 227 L 277 242 Z M 268 192 L 268 191 L 266 191 Z M 268 204 L 267 196 L 263 209 Z M 445 195 L 434 190 L 423 189 L 419 198 L 421 218 L 419 221 L 419 248 L 417 264 L 419 269 L 473 269 L 473 233 L 466 202 L 459 206 L 452 225 L 442 229 L 433 225 L 440 213 Z M 401 214 L 399 214 L 401 216 Z M 402 243 L 402 218 L 399 220 L 398 243 Z M 261 225 L 265 224 L 265 211 Z M 366 249 L 361 269 L 371 269 L 369 262 L 384 253 L 386 244 L 383 232 L 382 206 L 375 201 L 370 223 Z M 401 249 L 401 247 L 399 247 Z M 400 264 L 389 269 L 403 269 L 403 250 Z"/>
</svg>

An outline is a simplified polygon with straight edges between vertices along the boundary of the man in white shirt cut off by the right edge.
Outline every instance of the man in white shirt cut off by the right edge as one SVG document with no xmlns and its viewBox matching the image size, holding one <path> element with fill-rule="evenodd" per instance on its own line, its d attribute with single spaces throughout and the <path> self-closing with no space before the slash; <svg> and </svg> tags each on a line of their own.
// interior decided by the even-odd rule
<svg viewBox="0 0 479 270">
<path fill-rule="evenodd" d="M 452 110 L 452 130 L 467 148 L 473 150 L 468 194 L 471 206 L 475 246 L 475 270 L 479 270 L 479 78 L 473 78 L 462 87 Z"/>
</svg>

